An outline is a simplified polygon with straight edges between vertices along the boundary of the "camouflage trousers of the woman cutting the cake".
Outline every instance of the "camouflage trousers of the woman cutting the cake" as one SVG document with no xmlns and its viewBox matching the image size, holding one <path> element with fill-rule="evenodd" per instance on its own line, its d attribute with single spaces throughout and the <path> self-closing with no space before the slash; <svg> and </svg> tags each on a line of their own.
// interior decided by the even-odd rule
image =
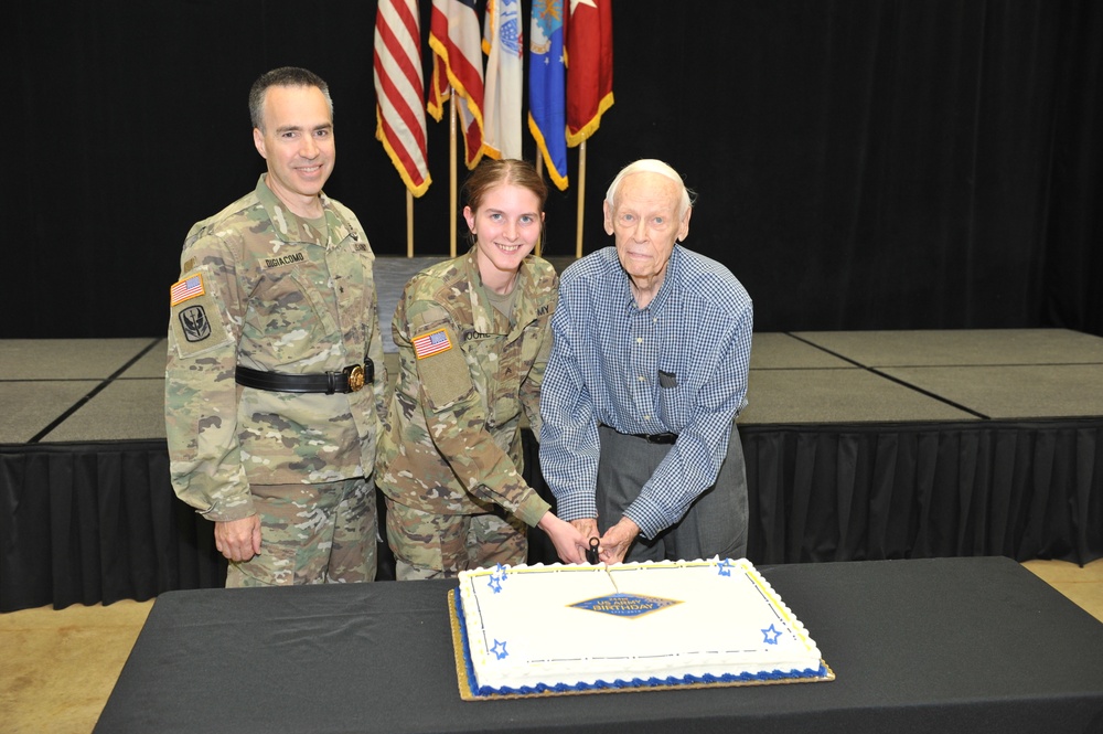
<svg viewBox="0 0 1103 734">
<path fill-rule="evenodd" d="M 513 515 L 433 514 L 387 498 L 387 542 L 398 581 L 451 578 L 470 568 L 524 563 L 527 532 Z"/>
</svg>

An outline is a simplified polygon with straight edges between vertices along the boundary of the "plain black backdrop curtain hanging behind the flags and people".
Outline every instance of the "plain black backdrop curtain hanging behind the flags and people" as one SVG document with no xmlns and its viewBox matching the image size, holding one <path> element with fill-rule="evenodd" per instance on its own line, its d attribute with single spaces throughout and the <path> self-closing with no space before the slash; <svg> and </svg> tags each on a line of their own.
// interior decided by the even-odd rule
<svg viewBox="0 0 1103 734">
<path fill-rule="evenodd" d="M 246 95 L 278 65 L 330 83 L 326 190 L 377 254 L 406 254 L 405 189 L 374 137 L 375 2 L 45 0 L 8 18 L 0 191 L 19 236 L 0 338 L 163 333 L 185 232 L 263 170 Z M 613 26 L 585 252 L 609 244 L 615 171 L 656 157 L 699 193 L 687 246 L 743 281 L 759 331 L 1103 334 L 1103 3 L 617 0 Z M 416 253 L 446 255 L 447 120 L 429 156 Z M 569 175 L 550 256 L 575 252 L 577 150 Z"/>
</svg>

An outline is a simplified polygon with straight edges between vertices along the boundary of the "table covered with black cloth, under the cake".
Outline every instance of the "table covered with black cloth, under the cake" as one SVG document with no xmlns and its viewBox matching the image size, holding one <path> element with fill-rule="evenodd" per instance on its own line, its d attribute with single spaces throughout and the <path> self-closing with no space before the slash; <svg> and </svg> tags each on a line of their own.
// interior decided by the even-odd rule
<svg viewBox="0 0 1103 734">
<path fill-rule="evenodd" d="M 1009 559 L 760 571 L 835 681 L 462 701 L 453 581 L 179 591 L 95 731 L 1103 731 L 1103 624 Z"/>
</svg>

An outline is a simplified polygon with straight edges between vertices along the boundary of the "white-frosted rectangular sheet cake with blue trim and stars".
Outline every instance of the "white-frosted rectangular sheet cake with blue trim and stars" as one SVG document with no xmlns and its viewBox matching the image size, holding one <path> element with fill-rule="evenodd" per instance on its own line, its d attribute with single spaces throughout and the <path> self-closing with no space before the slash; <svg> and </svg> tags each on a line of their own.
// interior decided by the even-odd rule
<svg viewBox="0 0 1103 734">
<path fill-rule="evenodd" d="M 475 695 L 829 673 L 747 560 L 497 566 L 459 583 Z"/>
</svg>

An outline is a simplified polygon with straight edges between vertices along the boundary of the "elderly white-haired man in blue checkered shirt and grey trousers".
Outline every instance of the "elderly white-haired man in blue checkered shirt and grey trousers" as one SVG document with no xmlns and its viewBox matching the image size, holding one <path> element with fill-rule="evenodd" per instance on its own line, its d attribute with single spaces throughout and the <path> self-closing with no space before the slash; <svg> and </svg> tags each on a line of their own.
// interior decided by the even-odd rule
<svg viewBox="0 0 1103 734">
<path fill-rule="evenodd" d="M 625 167 L 606 247 L 563 273 L 544 377 L 540 465 L 559 517 L 606 563 L 741 557 L 752 306 L 719 263 L 681 244 L 693 202 L 662 161 Z"/>
</svg>

